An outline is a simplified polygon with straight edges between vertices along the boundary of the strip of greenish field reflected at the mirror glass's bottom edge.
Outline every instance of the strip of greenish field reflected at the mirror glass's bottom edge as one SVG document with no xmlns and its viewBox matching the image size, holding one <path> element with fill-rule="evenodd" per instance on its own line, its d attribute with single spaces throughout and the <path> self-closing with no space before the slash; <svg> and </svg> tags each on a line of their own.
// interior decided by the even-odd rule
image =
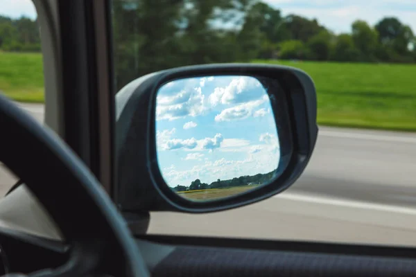
<svg viewBox="0 0 416 277">
<path fill-rule="evenodd" d="M 237 195 L 239 193 L 244 193 L 247 190 L 257 188 L 258 186 L 259 185 L 236 186 L 233 188 L 209 188 L 207 190 L 187 190 L 180 191 L 177 194 L 193 200 L 209 200 Z"/>
</svg>

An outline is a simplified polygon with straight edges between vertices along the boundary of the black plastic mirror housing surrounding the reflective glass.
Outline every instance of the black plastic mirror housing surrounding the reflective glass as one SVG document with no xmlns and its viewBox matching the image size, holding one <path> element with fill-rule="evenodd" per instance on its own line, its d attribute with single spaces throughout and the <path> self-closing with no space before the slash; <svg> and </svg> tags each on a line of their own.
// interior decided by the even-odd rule
<svg viewBox="0 0 416 277">
<path fill-rule="evenodd" d="M 183 78 L 218 75 L 245 75 L 273 80 L 279 91 L 268 89 L 272 109 L 285 107 L 291 144 L 287 165 L 275 179 L 245 193 L 194 202 L 180 197 L 168 187 L 157 162 L 156 99 L 164 84 Z M 263 82 L 264 85 L 264 82 Z M 273 102 L 272 99 L 279 99 Z M 318 136 L 316 95 L 313 81 L 299 69 L 268 64 L 208 64 L 183 66 L 145 75 L 127 84 L 116 95 L 116 174 L 114 191 L 121 211 L 181 211 L 209 213 L 237 208 L 281 193 L 306 168 Z M 275 113 L 275 120 L 281 120 Z"/>
</svg>

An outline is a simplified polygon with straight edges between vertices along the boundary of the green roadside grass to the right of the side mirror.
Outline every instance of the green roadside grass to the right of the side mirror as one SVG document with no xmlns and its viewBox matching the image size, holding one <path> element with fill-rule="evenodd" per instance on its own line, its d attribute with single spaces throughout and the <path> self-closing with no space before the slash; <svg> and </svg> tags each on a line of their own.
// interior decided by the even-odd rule
<svg viewBox="0 0 416 277">
<path fill-rule="evenodd" d="M 288 62 L 315 82 L 318 124 L 416 131 L 416 64 Z"/>
</svg>

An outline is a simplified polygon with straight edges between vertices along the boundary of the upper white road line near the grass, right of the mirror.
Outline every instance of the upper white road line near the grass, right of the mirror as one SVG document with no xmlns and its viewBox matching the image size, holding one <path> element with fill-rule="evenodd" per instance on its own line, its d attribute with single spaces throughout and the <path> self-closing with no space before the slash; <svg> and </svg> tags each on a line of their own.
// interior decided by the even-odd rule
<svg viewBox="0 0 416 277">
<path fill-rule="evenodd" d="M 320 136 L 332 136 L 343 139 L 365 139 L 370 141 L 390 141 L 400 143 L 416 143 L 416 137 L 407 136 L 385 136 L 382 134 L 362 134 L 352 132 L 320 131 Z"/>
</svg>

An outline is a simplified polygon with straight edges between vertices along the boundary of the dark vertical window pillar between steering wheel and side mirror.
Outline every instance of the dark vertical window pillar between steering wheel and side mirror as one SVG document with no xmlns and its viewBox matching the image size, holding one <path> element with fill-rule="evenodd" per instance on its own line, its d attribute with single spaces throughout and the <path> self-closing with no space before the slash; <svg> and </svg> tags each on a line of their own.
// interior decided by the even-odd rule
<svg viewBox="0 0 416 277">
<path fill-rule="evenodd" d="M 45 124 L 78 154 L 112 197 L 111 1 L 33 0 L 33 4 L 42 30 Z"/>
</svg>

